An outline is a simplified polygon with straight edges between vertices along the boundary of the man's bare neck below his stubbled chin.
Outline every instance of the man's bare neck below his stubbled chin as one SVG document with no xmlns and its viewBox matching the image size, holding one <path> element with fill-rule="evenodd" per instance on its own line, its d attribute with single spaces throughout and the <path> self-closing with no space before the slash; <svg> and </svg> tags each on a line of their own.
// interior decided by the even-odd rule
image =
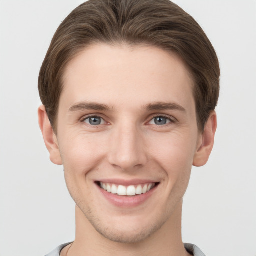
<svg viewBox="0 0 256 256">
<path fill-rule="evenodd" d="M 137 243 L 121 243 L 99 234 L 76 206 L 75 240 L 68 251 L 68 256 L 189 255 L 181 239 L 181 213 L 182 201 L 177 204 L 171 217 L 151 236 Z"/>
</svg>

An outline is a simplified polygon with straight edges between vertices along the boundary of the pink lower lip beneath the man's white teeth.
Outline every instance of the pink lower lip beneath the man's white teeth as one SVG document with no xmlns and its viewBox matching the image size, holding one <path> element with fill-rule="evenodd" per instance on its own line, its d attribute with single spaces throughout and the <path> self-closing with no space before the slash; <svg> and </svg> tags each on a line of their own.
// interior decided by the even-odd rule
<svg viewBox="0 0 256 256">
<path fill-rule="evenodd" d="M 158 185 L 154 186 L 152 189 L 150 189 L 148 192 L 146 192 L 144 194 L 138 194 L 138 195 L 134 195 L 134 196 L 112 194 L 112 193 L 109 193 L 109 192 L 105 191 L 104 189 L 102 189 L 98 185 L 96 185 L 96 186 L 98 187 L 98 189 L 100 190 L 102 195 L 110 203 L 114 204 L 115 206 L 118 206 L 118 207 L 135 207 L 135 206 L 138 206 L 138 205 L 142 204 L 149 197 L 151 197 L 151 195 L 154 193 L 154 191 L 156 190 Z"/>
</svg>

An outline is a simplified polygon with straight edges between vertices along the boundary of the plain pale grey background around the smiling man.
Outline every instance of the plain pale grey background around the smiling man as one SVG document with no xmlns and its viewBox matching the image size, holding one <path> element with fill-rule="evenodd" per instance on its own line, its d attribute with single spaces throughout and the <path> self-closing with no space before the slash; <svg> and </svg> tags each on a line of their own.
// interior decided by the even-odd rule
<svg viewBox="0 0 256 256">
<path fill-rule="evenodd" d="M 37 124 L 37 77 L 54 31 L 82 0 L 0 0 L 0 256 L 44 255 L 74 239 L 74 203 Z M 215 146 L 193 168 L 183 241 L 207 256 L 255 256 L 256 1 L 175 0 L 221 67 Z"/>
</svg>

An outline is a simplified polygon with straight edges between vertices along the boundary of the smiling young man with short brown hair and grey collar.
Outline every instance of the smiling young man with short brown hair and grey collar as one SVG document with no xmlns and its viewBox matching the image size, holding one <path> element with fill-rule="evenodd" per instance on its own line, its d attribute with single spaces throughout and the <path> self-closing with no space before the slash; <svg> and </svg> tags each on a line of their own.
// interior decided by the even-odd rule
<svg viewBox="0 0 256 256">
<path fill-rule="evenodd" d="M 39 125 L 76 203 L 76 236 L 48 255 L 204 255 L 181 239 L 191 167 L 216 130 L 215 51 L 168 0 L 90 0 L 53 36 Z"/>
</svg>

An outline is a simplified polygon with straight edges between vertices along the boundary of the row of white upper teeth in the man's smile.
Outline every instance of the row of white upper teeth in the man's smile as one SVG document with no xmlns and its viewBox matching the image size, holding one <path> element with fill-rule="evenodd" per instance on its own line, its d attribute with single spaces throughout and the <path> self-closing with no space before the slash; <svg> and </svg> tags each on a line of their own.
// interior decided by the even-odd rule
<svg viewBox="0 0 256 256">
<path fill-rule="evenodd" d="M 150 189 L 152 189 L 155 186 L 155 183 L 148 183 L 144 185 L 129 185 L 129 186 L 123 186 L 123 185 L 115 185 L 110 183 L 104 183 L 100 182 L 100 187 L 103 188 L 108 193 L 112 194 L 118 194 L 118 195 L 136 195 L 136 194 L 144 194 L 148 192 Z"/>
</svg>

